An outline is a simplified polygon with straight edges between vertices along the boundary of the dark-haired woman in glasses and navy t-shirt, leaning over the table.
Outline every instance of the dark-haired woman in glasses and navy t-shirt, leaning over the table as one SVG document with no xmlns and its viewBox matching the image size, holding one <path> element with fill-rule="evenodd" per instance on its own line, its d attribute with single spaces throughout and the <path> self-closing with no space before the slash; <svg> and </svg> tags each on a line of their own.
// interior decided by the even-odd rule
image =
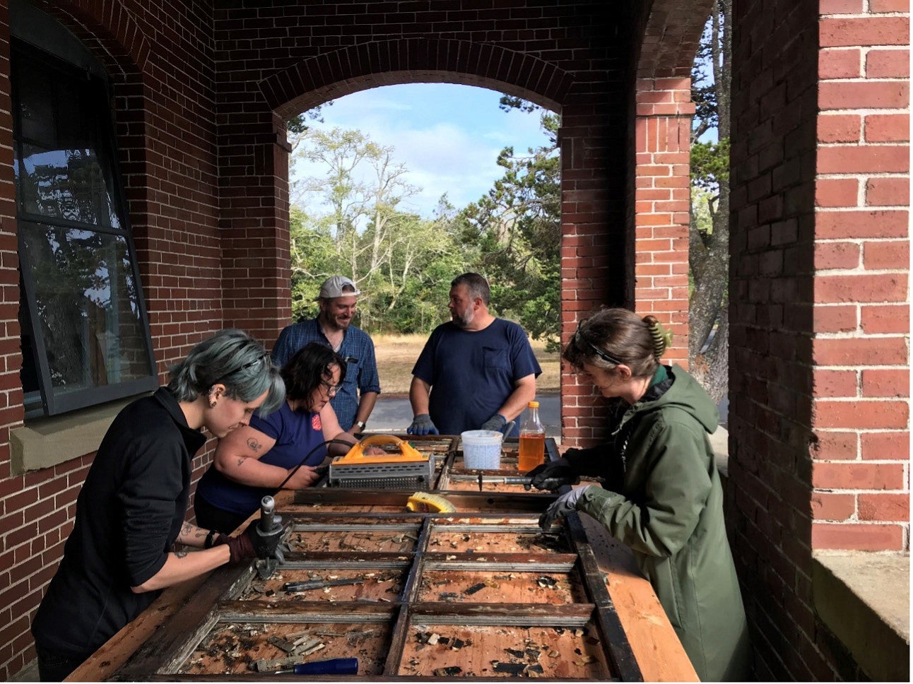
<svg viewBox="0 0 913 684">
<path fill-rule="evenodd" d="M 330 399 L 345 379 L 346 363 L 320 342 L 310 342 L 282 366 L 286 400 L 269 416 L 219 440 L 213 465 L 196 488 L 194 511 L 200 525 L 230 532 L 259 509 L 265 494 L 310 487 L 318 467 L 356 444 L 342 430 Z M 342 444 L 325 445 L 328 440 Z M 365 453 L 383 453 L 370 447 Z"/>
</svg>

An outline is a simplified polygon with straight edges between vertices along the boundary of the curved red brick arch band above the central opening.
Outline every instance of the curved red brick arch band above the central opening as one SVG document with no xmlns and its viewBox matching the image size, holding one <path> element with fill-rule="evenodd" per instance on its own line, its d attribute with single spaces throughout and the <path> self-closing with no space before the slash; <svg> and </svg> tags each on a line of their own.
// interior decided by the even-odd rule
<svg viewBox="0 0 913 684">
<path fill-rule="evenodd" d="M 260 81 L 268 105 L 289 119 L 322 102 L 365 88 L 401 83 L 456 83 L 501 90 L 561 110 L 572 76 L 504 47 L 468 40 L 407 38 L 343 47 Z"/>
</svg>

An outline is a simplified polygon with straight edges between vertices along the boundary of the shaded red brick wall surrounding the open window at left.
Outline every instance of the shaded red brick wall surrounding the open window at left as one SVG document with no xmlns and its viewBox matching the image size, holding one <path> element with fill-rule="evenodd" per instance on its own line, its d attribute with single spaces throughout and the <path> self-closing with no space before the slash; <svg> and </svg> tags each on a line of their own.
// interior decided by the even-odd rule
<svg viewBox="0 0 913 684">
<path fill-rule="evenodd" d="M 98 0 L 37 3 L 75 33 L 112 79 L 121 173 L 141 264 L 158 370 L 223 327 L 216 221 L 215 91 L 211 16 L 205 3 Z M 0 63 L 9 73 L 8 14 L 0 11 Z M 175 68 L 179 63 L 180 68 Z M 73 525 L 92 454 L 10 476 L 9 430 L 22 424 L 16 224 L 9 81 L 0 111 L 0 261 L 5 363 L 0 395 L 0 674 L 35 657 L 29 633 L 44 587 Z M 196 476 L 208 456 L 194 459 Z"/>
</svg>

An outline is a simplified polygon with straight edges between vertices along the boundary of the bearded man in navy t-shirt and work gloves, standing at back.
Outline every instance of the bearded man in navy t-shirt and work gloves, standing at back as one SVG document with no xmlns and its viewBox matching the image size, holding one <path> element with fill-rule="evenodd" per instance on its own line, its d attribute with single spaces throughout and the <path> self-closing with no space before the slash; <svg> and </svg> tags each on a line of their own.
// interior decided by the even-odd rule
<svg viewBox="0 0 913 684">
<path fill-rule="evenodd" d="M 488 313 L 488 280 L 464 273 L 450 283 L 452 321 L 431 333 L 412 369 L 411 435 L 500 430 L 536 397 L 541 374 L 526 332 Z M 518 435 L 514 426 L 508 435 Z"/>
</svg>

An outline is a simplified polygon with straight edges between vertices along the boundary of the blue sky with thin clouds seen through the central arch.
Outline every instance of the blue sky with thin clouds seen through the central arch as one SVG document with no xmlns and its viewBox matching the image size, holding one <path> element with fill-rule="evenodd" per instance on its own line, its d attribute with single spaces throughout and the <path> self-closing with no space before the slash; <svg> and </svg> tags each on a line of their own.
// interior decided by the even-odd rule
<svg viewBox="0 0 913 684">
<path fill-rule="evenodd" d="M 404 163 L 407 182 L 422 188 L 404 209 L 431 217 L 445 192 L 457 209 L 484 195 L 503 175 L 498 153 L 513 145 L 517 153 L 548 143 L 539 112 L 498 109 L 496 90 L 446 83 L 383 86 L 347 95 L 324 107 L 324 122 L 309 125 L 330 130 L 357 129 L 373 142 L 394 148 Z M 299 165 L 304 176 L 320 173 Z"/>
</svg>

